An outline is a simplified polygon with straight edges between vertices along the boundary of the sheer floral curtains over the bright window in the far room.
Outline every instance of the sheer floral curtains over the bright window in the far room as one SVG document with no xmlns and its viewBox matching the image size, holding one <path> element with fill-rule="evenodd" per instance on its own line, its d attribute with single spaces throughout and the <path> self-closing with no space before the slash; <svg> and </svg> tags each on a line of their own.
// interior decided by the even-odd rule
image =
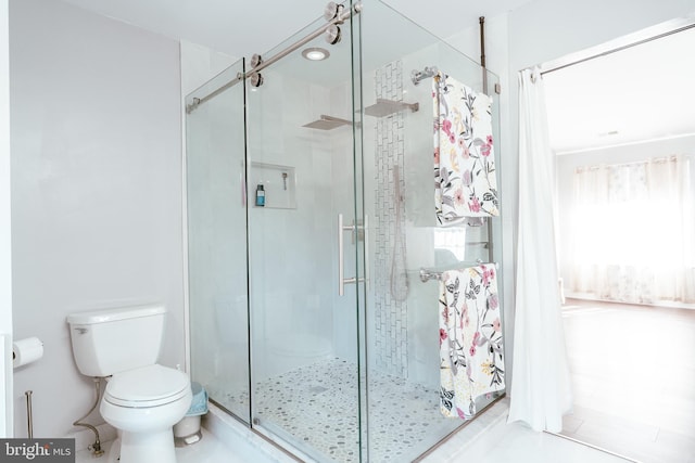
<svg viewBox="0 0 695 463">
<path fill-rule="evenodd" d="M 574 172 L 570 290 L 607 300 L 695 303 L 695 204 L 685 156 Z"/>
</svg>

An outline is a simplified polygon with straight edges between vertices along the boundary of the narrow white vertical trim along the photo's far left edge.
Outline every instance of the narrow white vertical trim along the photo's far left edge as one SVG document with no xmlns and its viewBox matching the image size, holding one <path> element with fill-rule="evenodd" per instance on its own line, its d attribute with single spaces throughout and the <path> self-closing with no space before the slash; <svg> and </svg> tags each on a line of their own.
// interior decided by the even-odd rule
<svg viewBox="0 0 695 463">
<path fill-rule="evenodd" d="M 12 335 L 9 51 L 8 1 L 0 0 L 0 335 Z M 12 435 L 12 376 L 7 373 L 0 371 L 0 437 Z"/>
</svg>

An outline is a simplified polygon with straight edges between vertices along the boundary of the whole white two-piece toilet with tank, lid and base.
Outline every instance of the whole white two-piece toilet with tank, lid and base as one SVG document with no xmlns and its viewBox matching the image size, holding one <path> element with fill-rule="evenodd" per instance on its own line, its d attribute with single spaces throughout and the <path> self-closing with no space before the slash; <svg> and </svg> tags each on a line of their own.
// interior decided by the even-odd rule
<svg viewBox="0 0 695 463">
<path fill-rule="evenodd" d="M 162 306 L 140 306 L 67 317 L 77 368 L 106 377 L 100 411 L 118 429 L 121 463 L 176 462 L 172 427 L 192 393 L 186 373 L 156 364 L 165 314 Z"/>
</svg>

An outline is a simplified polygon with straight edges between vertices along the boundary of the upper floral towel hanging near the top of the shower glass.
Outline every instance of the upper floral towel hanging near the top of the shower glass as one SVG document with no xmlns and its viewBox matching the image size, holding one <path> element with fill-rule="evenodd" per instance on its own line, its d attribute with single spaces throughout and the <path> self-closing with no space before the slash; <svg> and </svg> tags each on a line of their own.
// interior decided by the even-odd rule
<svg viewBox="0 0 695 463">
<path fill-rule="evenodd" d="M 497 216 L 492 99 L 439 73 L 434 100 L 434 203 L 440 224 Z"/>
</svg>

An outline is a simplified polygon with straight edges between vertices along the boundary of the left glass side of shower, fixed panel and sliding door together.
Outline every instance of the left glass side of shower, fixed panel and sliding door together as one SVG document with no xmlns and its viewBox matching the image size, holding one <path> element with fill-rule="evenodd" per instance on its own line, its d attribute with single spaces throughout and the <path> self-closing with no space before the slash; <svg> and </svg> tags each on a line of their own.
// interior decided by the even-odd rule
<svg viewBox="0 0 695 463">
<path fill-rule="evenodd" d="M 260 73 L 240 62 L 187 98 L 191 370 L 280 446 L 357 462 L 368 233 L 357 25 L 345 17 L 332 44 L 305 40 L 325 26 L 264 53 L 274 63 Z"/>
</svg>

